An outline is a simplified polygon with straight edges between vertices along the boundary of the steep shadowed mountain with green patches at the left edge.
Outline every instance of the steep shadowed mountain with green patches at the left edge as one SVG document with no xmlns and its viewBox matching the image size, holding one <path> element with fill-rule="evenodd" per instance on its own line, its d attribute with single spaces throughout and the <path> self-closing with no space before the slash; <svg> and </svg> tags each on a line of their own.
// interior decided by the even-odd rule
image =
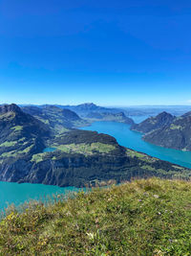
<svg viewBox="0 0 191 256">
<path fill-rule="evenodd" d="M 50 138 L 51 130 L 17 105 L 0 106 L 0 163 L 2 157 L 11 157 L 17 152 L 22 157 L 26 152 L 39 152 Z"/>
</svg>

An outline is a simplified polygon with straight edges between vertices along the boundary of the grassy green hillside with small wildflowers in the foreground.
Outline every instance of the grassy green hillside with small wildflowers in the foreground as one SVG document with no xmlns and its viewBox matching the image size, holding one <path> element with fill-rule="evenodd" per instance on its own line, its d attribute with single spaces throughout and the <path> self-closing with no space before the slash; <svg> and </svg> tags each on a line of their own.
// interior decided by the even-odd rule
<svg viewBox="0 0 191 256">
<path fill-rule="evenodd" d="M 191 182 L 151 178 L 30 204 L 0 222 L 1 255 L 191 255 Z"/>
</svg>

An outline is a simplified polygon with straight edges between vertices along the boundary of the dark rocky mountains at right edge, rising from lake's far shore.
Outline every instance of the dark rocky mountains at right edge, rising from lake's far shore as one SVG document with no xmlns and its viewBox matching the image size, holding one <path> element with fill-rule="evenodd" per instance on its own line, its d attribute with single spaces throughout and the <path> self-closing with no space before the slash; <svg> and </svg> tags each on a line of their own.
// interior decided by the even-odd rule
<svg viewBox="0 0 191 256">
<path fill-rule="evenodd" d="M 133 125 L 132 129 L 143 132 L 143 140 L 160 147 L 191 151 L 191 112 L 180 117 L 162 112 Z"/>
</svg>

